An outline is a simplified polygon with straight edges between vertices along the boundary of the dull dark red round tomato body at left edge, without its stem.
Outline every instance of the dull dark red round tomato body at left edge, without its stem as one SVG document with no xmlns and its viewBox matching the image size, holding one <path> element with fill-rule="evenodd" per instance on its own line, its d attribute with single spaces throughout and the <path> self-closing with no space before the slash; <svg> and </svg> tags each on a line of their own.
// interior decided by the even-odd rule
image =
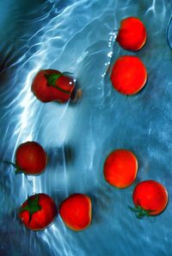
<svg viewBox="0 0 172 256">
<path fill-rule="evenodd" d="M 46 168 L 46 152 L 40 144 L 28 141 L 17 148 L 15 163 L 25 174 L 39 175 Z"/>
</svg>

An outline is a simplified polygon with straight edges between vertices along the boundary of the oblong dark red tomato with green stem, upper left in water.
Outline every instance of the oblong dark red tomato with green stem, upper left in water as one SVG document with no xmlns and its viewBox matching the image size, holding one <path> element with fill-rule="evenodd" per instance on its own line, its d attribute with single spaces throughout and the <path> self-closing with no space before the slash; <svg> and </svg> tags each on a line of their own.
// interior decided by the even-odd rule
<svg viewBox="0 0 172 256">
<path fill-rule="evenodd" d="M 32 92 L 42 102 L 66 102 L 70 99 L 75 83 L 67 75 L 54 69 L 40 70 L 34 77 Z"/>
</svg>

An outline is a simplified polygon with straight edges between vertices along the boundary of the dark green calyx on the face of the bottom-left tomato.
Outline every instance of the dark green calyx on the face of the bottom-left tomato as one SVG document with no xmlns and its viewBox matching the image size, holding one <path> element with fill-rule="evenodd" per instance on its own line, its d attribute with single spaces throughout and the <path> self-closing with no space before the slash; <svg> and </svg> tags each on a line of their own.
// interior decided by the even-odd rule
<svg viewBox="0 0 172 256">
<path fill-rule="evenodd" d="M 39 194 L 28 197 L 28 204 L 24 208 L 20 208 L 19 212 L 22 213 L 23 211 L 28 211 L 29 213 L 29 220 L 32 220 L 32 215 L 38 211 L 40 211 L 41 207 L 39 204 Z"/>
</svg>

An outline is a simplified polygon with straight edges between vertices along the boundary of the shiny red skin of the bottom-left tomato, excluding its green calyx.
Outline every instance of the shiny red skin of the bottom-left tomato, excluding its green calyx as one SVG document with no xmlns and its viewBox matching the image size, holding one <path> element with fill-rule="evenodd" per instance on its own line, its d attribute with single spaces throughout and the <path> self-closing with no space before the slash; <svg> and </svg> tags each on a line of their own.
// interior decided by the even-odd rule
<svg viewBox="0 0 172 256">
<path fill-rule="evenodd" d="M 39 205 L 41 209 L 38 212 L 32 214 L 30 221 L 28 210 L 20 212 L 19 218 L 21 219 L 22 223 L 29 229 L 39 231 L 52 224 L 56 215 L 58 214 L 58 208 L 49 195 L 41 193 L 36 195 L 39 195 Z M 36 195 L 31 195 L 29 198 L 34 200 Z M 27 205 L 28 200 L 22 204 L 20 210 L 25 208 Z"/>
</svg>

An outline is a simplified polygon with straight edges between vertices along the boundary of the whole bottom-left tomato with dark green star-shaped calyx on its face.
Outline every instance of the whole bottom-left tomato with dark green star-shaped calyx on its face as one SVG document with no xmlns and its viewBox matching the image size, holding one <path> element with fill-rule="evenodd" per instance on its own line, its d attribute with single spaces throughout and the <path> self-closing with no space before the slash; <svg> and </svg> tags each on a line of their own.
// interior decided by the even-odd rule
<svg viewBox="0 0 172 256">
<path fill-rule="evenodd" d="M 57 214 L 55 202 L 46 194 L 31 195 L 19 210 L 19 218 L 23 224 L 34 231 L 48 227 Z"/>
</svg>

